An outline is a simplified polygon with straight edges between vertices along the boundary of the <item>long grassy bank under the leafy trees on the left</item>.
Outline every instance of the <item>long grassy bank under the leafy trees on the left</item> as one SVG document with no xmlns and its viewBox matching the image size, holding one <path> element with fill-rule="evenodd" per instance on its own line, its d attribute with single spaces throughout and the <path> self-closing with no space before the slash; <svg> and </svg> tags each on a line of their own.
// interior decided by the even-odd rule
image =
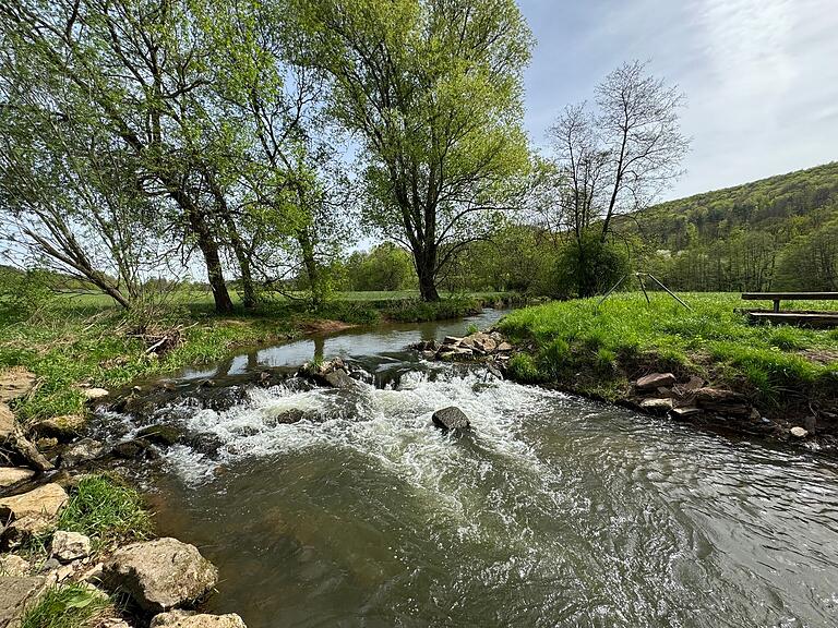
<svg viewBox="0 0 838 628">
<path fill-rule="evenodd" d="M 316 330 L 324 319 L 356 325 L 434 321 L 512 299 L 486 293 L 427 304 L 402 292 L 340 297 L 318 312 L 309 311 L 304 301 L 284 300 L 229 316 L 216 316 L 200 297 L 129 315 L 100 295 L 63 294 L 25 312 L 4 309 L 0 302 L 0 373 L 21 366 L 37 376 L 36 389 L 12 403 L 17 416 L 28 422 L 84 412 L 83 387 L 110 389 L 139 376 L 214 362 L 239 347 Z M 160 340 L 164 343 L 155 347 Z"/>
</svg>

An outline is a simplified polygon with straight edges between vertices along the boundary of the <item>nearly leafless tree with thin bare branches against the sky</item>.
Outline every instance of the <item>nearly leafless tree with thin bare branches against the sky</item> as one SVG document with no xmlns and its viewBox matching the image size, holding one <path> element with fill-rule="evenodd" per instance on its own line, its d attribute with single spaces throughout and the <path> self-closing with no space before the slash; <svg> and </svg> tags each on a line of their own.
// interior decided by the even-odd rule
<svg viewBox="0 0 838 628">
<path fill-rule="evenodd" d="M 571 233 L 576 251 L 580 297 L 596 293 L 601 281 L 589 266 L 616 268 L 613 218 L 648 207 L 679 177 L 690 142 L 681 134 L 678 111 L 683 95 L 646 74 L 646 65 L 625 63 L 596 90 L 596 109 L 585 102 L 565 108 L 549 132 L 558 176 L 549 180 L 552 200 L 542 218 L 559 214 L 552 227 Z M 549 185 L 548 185 L 549 186 Z"/>
</svg>

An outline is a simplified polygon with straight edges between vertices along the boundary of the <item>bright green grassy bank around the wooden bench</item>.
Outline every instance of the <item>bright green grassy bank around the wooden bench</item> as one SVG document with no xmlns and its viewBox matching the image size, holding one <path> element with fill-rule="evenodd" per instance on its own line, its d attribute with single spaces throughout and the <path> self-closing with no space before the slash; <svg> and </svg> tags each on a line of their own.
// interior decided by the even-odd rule
<svg viewBox="0 0 838 628">
<path fill-rule="evenodd" d="M 501 330 L 528 348 L 511 371 L 525 382 L 558 382 L 583 394 L 620 398 L 649 371 L 698 374 L 747 394 L 762 409 L 780 411 L 838 399 L 838 330 L 751 326 L 739 294 L 615 294 L 549 303 L 513 312 Z M 783 307 L 823 310 L 829 302 Z"/>
</svg>

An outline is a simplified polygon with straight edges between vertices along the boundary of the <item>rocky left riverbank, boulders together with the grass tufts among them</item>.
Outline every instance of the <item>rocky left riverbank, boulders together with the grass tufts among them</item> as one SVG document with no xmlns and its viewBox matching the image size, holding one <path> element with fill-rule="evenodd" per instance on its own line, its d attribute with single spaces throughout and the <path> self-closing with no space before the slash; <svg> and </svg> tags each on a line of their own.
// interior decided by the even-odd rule
<svg viewBox="0 0 838 628">
<path fill-rule="evenodd" d="M 7 401 L 28 392 L 21 381 L 0 386 L 0 628 L 243 628 L 238 615 L 196 612 L 218 571 L 195 546 L 149 538 L 131 490 L 77 468 L 106 449 L 79 438 L 83 416 L 16 421 Z M 124 529 L 109 530 L 108 515 Z"/>
</svg>

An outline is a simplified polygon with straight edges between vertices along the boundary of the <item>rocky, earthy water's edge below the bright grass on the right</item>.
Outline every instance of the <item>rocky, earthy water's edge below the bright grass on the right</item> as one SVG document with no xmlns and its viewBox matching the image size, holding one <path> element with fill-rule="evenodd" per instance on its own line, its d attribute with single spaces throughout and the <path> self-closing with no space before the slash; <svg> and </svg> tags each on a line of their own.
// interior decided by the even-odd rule
<svg viewBox="0 0 838 628">
<path fill-rule="evenodd" d="M 420 342 L 412 348 L 428 360 L 480 362 L 499 375 L 531 383 L 520 377 L 515 367 L 510 367 L 516 355 L 529 359 L 527 348 L 514 346 L 498 330 L 446 337 L 441 343 Z M 665 369 L 658 372 L 654 364 L 647 364 L 609 397 L 590 395 L 578 385 L 583 379 L 588 383 L 587 377 L 580 373 L 576 375 L 576 378 L 540 384 L 716 432 L 758 436 L 814 450 L 838 451 L 838 416 L 835 414 L 822 411 L 817 414 L 779 415 L 770 409 L 761 409 L 747 394 L 713 384 L 696 373 L 672 373 Z"/>
</svg>

